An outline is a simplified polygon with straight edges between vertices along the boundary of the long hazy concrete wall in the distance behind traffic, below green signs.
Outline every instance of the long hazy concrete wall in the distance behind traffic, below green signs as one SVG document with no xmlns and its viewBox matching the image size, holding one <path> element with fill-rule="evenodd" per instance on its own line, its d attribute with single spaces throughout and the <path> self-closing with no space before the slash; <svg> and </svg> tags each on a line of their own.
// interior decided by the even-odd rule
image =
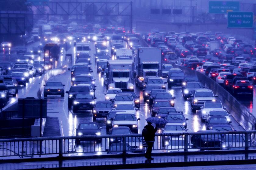
<svg viewBox="0 0 256 170">
<path fill-rule="evenodd" d="M 175 32 L 206 32 L 221 31 L 225 34 L 239 35 L 246 37 L 248 39 L 253 39 L 253 29 L 236 29 L 227 28 L 226 24 L 190 24 L 190 23 L 171 23 L 171 22 L 159 22 L 159 21 L 135 21 L 136 31 L 141 33 L 151 32 L 153 29 L 158 29 L 159 31 L 175 31 Z"/>
</svg>

